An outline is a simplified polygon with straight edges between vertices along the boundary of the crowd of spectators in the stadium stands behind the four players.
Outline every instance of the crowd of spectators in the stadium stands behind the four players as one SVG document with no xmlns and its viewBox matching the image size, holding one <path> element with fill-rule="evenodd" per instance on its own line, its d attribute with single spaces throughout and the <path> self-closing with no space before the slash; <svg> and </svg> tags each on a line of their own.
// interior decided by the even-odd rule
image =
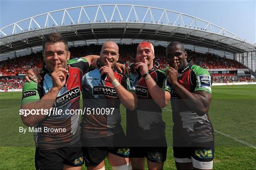
<svg viewBox="0 0 256 170">
<path fill-rule="evenodd" d="M 132 63 L 136 63 L 136 50 L 137 44 L 119 45 L 119 62 L 125 63 L 128 67 Z M 84 45 L 77 47 L 70 47 L 71 58 L 79 58 L 89 54 L 98 54 L 101 51 L 101 45 Z M 187 50 L 188 61 L 192 60 L 196 65 L 201 66 L 205 69 L 227 69 L 227 68 L 245 68 L 241 63 L 220 57 L 216 54 L 202 54 L 191 50 Z M 168 66 L 165 62 L 165 47 L 155 46 L 155 63 L 154 66 L 157 69 L 164 69 Z M 15 89 L 22 88 L 22 83 L 18 78 L 11 78 L 6 76 L 22 76 L 31 67 L 42 68 L 43 56 L 42 52 L 32 53 L 22 57 L 16 57 L 0 62 L 0 87 L 1 89 Z M 215 82 L 232 82 L 234 78 L 216 78 Z M 234 82 L 238 81 L 250 81 L 247 78 L 234 79 Z"/>
</svg>

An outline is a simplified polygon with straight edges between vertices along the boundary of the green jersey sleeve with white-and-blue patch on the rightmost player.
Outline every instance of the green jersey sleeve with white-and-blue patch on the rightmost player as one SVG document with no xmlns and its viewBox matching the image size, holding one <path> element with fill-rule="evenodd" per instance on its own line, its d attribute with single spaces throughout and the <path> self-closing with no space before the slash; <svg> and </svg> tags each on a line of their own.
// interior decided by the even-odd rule
<svg viewBox="0 0 256 170">
<path fill-rule="evenodd" d="M 194 90 L 204 90 L 211 93 L 212 79 L 210 73 L 207 70 L 196 65 L 192 65 L 191 68 L 195 73 L 195 80 L 193 80 L 193 83 L 196 83 L 196 86 Z"/>
</svg>

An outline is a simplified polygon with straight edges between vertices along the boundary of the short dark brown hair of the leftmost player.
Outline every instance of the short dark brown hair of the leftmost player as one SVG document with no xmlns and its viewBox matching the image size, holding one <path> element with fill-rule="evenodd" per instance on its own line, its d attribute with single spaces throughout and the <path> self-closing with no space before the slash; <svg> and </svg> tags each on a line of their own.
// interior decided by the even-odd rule
<svg viewBox="0 0 256 170">
<path fill-rule="evenodd" d="M 59 33 L 51 33 L 43 39 L 43 54 L 45 53 L 46 43 L 57 43 L 57 42 L 63 42 L 65 45 L 65 50 L 68 52 L 68 42 L 66 38 L 64 38 Z"/>
</svg>

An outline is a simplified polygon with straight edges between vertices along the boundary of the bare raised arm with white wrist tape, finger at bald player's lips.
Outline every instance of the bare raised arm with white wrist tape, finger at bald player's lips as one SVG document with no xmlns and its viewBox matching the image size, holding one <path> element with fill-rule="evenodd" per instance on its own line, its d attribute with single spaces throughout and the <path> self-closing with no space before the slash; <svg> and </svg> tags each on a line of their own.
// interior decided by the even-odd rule
<svg viewBox="0 0 256 170">
<path fill-rule="evenodd" d="M 107 65 L 101 67 L 100 69 L 101 75 L 106 74 L 106 76 L 114 86 L 118 94 L 118 98 L 120 99 L 124 107 L 126 107 L 129 110 L 135 110 L 137 108 L 137 95 L 134 92 L 128 91 L 119 83 L 107 59 L 106 59 L 106 62 L 107 62 Z"/>
</svg>

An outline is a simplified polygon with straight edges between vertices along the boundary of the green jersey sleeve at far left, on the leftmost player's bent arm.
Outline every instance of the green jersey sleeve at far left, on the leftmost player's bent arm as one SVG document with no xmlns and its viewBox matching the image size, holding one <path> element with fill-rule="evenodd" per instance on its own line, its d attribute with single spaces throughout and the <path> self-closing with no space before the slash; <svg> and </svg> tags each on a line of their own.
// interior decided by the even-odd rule
<svg viewBox="0 0 256 170">
<path fill-rule="evenodd" d="M 22 87 L 21 105 L 40 100 L 42 91 L 38 88 L 39 83 L 34 81 L 26 82 Z"/>
</svg>

